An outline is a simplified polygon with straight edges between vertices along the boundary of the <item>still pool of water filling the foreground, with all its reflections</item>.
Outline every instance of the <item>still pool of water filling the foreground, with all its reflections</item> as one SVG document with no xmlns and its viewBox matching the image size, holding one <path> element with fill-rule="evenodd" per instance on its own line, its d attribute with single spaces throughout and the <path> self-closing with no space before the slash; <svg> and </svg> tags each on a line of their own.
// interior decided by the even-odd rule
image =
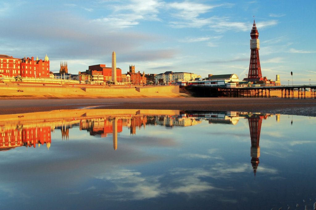
<svg viewBox="0 0 316 210">
<path fill-rule="evenodd" d="M 2 115 L 0 209 L 313 209 L 315 122 L 177 110 Z"/>
</svg>

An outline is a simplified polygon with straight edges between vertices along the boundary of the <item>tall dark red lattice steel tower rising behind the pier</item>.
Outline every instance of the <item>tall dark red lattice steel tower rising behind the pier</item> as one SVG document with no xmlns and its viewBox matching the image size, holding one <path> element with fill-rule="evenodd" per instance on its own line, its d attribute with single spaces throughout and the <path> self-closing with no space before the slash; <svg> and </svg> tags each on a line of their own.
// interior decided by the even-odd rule
<svg viewBox="0 0 316 210">
<path fill-rule="evenodd" d="M 262 80 L 261 74 L 261 67 L 260 67 L 260 60 L 259 60 L 259 49 L 260 49 L 260 42 L 259 42 L 259 33 L 256 27 L 255 20 L 253 20 L 252 30 L 250 32 L 250 65 L 249 65 L 249 72 L 248 72 L 248 79 L 255 79 L 255 80 Z"/>
</svg>

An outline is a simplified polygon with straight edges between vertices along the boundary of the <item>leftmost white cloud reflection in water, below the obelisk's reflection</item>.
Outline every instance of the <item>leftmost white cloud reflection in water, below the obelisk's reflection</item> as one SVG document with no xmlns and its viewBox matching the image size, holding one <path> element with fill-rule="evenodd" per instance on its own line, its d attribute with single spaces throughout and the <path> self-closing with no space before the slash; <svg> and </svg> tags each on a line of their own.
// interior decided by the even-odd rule
<svg viewBox="0 0 316 210">
<path fill-rule="evenodd" d="M 165 194 L 159 183 L 159 177 L 142 177 L 141 175 L 140 172 L 122 169 L 96 178 L 111 181 L 115 185 L 116 189 L 113 190 L 115 196 L 107 194 L 109 199 L 142 200 Z"/>
</svg>

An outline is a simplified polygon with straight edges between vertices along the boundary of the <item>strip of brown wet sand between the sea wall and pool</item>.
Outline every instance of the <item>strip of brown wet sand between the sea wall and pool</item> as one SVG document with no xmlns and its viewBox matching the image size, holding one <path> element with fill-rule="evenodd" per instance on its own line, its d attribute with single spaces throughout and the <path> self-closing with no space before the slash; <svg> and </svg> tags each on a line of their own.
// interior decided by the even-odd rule
<svg viewBox="0 0 316 210">
<path fill-rule="evenodd" d="M 246 111 L 316 116 L 315 99 L 282 98 L 103 98 L 0 100 L 0 115 L 64 109 L 162 109 Z"/>
</svg>

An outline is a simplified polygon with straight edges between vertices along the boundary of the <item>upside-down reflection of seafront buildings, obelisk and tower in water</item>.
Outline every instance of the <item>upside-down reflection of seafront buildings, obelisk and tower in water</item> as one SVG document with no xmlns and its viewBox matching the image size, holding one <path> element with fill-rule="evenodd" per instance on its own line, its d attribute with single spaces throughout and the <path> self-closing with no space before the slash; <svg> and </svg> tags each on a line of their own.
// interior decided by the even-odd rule
<svg viewBox="0 0 316 210">
<path fill-rule="evenodd" d="M 161 125 L 165 127 L 174 126 L 194 126 L 202 121 L 208 121 L 209 124 L 230 124 L 236 125 L 241 118 L 248 121 L 250 130 L 250 156 L 253 173 L 256 175 L 259 157 L 260 157 L 260 132 L 264 119 L 270 117 L 270 114 L 248 113 L 248 112 L 194 112 L 178 111 L 176 115 L 153 115 L 141 114 L 136 111 L 134 114 L 112 115 L 112 116 L 94 116 L 88 117 L 87 114 L 81 117 L 62 119 L 62 120 L 32 120 L 22 122 L 19 119 L 16 122 L 0 122 L 0 151 L 14 149 L 15 147 L 40 147 L 46 145 L 47 149 L 51 146 L 51 132 L 60 130 L 61 139 L 69 140 L 69 130 L 73 127 L 79 127 L 81 131 L 86 130 L 91 136 L 100 138 L 112 135 L 113 149 L 118 149 L 118 133 L 123 128 L 128 128 L 131 135 L 137 134 L 137 129 L 145 129 L 147 125 Z M 276 115 L 276 122 L 280 121 L 280 115 Z"/>
</svg>

